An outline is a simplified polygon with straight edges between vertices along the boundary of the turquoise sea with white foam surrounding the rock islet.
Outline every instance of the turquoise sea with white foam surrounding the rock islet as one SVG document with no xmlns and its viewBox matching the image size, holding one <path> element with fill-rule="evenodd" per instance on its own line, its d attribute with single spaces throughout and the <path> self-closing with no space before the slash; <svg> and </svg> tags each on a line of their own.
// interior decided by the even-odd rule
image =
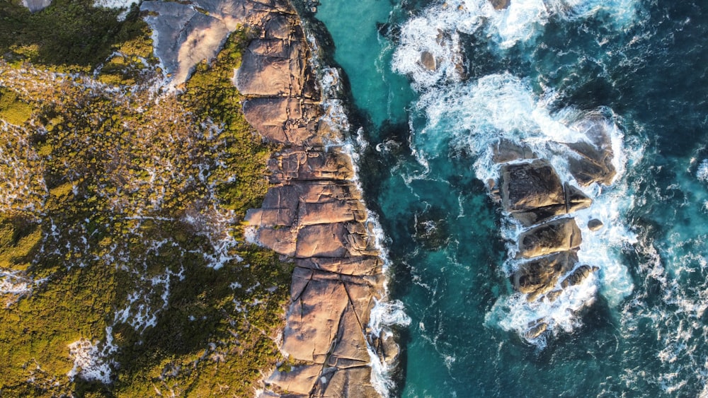
<svg viewBox="0 0 708 398">
<path fill-rule="evenodd" d="M 708 394 L 708 4 L 321 0 L 316 18 L 361 111 L 362 184 L 412 321 L 392 395 Z M 581 261 L 600 271 L 578 297 L 594 300 L 533 308 L 509 283 L 489 145 L 554 158 L 547 143 L 590 116 L 621 153 L 578 215 L 607 226 L 583 233 Z M 539 315 L 552 327 L 526 341 Z"/>
</svg>

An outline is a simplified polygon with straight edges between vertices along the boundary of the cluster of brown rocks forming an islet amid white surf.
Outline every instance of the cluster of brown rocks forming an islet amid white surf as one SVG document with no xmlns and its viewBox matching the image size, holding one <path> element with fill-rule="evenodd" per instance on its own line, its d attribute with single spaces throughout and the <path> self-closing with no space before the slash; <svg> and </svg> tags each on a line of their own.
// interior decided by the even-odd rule
<svg viewBox="0 0 708 398">
<path fill-rule="evenodd" d="M 610 185 L 615 168 L 606 124 L 590 118 L 578 126 L 586 140 L 564 144 L 571 150 L 569 172 L 580 185 Z M 500 180 L 489 182 L 490 193 L 523 228 L 514 251 L 518 269 L 511 276 L 513 286 L 528 301 L 552 302 L 564 289 L 598 271 L 598 267 L 578 262 L 583 238 L 572 217 L 593 201 L 578 187 L 561 182 L 551 163 L 537 158 L 529 148 L 501 140 L 491 149 L 493 161 L 500 165 Z M 588 221 L 589 230 L 600 228 L 601 221 Z M 537 339 L 548 327 L 543 319 L 531 322 L 524 337 Z"/>
</svg>

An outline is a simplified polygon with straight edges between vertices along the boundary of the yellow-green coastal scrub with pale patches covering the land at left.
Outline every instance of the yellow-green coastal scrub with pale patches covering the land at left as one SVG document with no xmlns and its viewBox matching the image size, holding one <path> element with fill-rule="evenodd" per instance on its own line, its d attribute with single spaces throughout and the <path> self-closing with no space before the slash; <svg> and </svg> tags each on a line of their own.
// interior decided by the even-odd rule
<svg viewBox="0 0 708 398">
<path fill-rule="evenodd" d="M 231 83 L 247 33 L 154 93 L 137 12 L 88 4 L 0 5 L 0 396 L 251 396 L 292 266 L 241 237 L 274 149 Z"/>
</svg>

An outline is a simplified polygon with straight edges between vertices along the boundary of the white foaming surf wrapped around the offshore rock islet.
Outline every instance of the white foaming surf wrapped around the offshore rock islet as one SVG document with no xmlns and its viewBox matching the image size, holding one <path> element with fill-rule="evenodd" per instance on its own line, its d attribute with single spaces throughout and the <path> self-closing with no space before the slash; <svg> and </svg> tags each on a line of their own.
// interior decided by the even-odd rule
<svg viewBox="0 0 708 398">
<path fill-rule="evenodd" d="M 569 332 L 580 324 L 576 312 L 592 303 L 596 293 L 602 294 L 610 305 L 617 305 L 633 289 L 632 278 L 622 261 L 622 250 L 636 243 L 636 235 L 623 219 L 633 201 L 623 176 L 627 164 L 641 160 L 641 146 L 624 148 L 624 136 L 610 109 L 554 110 L 551 106 L 554 103 L 553 91 L 535 95 L 527 81 L 510 74 L 494 74 L 472 83 L 428 90 L 416 104 L 426 119 L 425 126 L 413 134 L 412 146 L 420 156 L 435 158 L 447 153 L 448 146 L 455 152 L 464 151 L 474 159 L 472 168 L 476 177 L 485 182 L 498 180 L 500 167 L 493 161 L 493 148 L 500 140 L 506 140 L 549 160 L 561 181 L 581 186 L 569 171 L 568 159 L 576 155 L 564 143 L 587 141 L 588 129 L 603 129 L 610 136 L 615 154 L 612 161 L 617 170 L 614 183 L 611 187 L 596 183 L 584 187 L 583 192 L 593 198 L 594 204 L 574 213 L 583 233 L 578 265 L 597 266 L 600 271 L 578 286 L 566 288 L 552 302 L 530 303 L 520 293 L 502 296 L 487 314 L 486 324 L 522 336 L 539 319 L 544 319 L 553 333 Z M 591 219 L 603 221 L 605 227 L 590 231 Z M 515 242 L 523 230 L 511 218 L 503 223 L 501 234 L 509 242 L 510 259 L 502 267 L 507 276 L 520 265 L 513 257 L 517 250 Z M 537 346 L 545 344 L 543 338 L 532 342 Z"/>
</svg>

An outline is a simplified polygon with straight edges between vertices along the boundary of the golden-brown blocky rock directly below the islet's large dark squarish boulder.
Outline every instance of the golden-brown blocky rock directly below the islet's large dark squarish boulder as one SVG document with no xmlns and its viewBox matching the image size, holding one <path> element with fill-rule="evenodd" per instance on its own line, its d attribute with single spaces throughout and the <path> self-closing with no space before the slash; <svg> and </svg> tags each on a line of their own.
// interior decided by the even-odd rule
<svg viewBox="0 0 708 398">
<path fill-rule="evenodd" d="M 539 257 L 579 247 L 583 238 L 574 218 L 561 218 L 527 230 L 519 237 L 519 255 Z"/>
</svg>

